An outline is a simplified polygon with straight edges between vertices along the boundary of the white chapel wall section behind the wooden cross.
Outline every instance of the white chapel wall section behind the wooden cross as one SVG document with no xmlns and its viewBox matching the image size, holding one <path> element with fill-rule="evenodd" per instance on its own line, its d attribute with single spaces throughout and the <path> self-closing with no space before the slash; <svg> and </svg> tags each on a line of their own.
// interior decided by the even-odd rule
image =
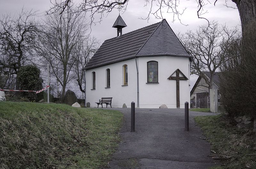
<svg viewBox="0 0 256 169">
<path fill-rule="evenodd" d="M 158 62 L 158 84 L 146 84 L 148 61 Z M 167 78 L 177 69 L 189 78 L 189 59 L 174 56 L 139 57 L 137 62 L 140 79 L 140 108 L 159 108 L 162 104 L 168 108 L 177 108 L 176 80 Z M 176 73 L 173 76 L 176 76 Z M 190 104 L 189 80 L 180 80 L 180 108 L 185 107 L 186 101 Z"/>
</svg>

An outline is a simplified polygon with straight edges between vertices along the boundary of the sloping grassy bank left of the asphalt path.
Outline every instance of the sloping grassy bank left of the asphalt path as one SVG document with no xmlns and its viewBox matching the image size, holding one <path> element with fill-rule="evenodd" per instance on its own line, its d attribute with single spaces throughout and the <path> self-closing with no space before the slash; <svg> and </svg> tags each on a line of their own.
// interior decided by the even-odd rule
<svg viewBox="0 0 256 169">
<path fill-rule="evenodd" d="M 64 104 L 0 102 L 0 168 L 102 168 L 123 115 Z"/>
</svg>

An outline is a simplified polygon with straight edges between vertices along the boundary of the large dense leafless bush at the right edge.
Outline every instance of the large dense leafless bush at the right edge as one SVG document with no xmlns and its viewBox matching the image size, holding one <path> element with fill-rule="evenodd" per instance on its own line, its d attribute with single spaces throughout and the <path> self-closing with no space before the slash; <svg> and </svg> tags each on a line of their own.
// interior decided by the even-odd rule
<svg viewBox="0 0 256 169">
<path fill-rule="evenodd" d="M 256 21 L 243 31 L 243 37 L 228 44 L 221 65 L 220 93 L 230 116 L 255 115 L 256 111 Z"/>
</svg>

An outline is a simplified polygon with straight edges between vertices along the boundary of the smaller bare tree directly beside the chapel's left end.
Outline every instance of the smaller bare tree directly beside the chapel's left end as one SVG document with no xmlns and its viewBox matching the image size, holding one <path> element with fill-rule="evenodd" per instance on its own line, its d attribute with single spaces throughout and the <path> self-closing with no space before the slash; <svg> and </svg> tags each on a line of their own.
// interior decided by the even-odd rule
<svg viewBox="0 0 256 169">
<path fill-rule="evenodd" d="M 92 58 L 93 54 L 97 51 L 99 48 L 99 40 L 97 40 L 95 37 L 92 38 L 86 38 L 85 40 L 80 40 L 76 44 L 76 55 L 75 55 L 75 66 L 74 66 L 74 72 L 75 72 L 75 78 L 79 85 L 79 89 L 81 92 L 84 93 L 83 84 L 84 84 L 84 71 L 85 65 L 89 62 L 89 60 Z"/>
</svg>

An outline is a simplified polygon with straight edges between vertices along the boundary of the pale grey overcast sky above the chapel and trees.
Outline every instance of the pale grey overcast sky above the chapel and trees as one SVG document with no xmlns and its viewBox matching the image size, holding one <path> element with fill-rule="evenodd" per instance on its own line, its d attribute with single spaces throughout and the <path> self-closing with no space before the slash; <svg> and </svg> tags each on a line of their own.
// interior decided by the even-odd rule
<svg viewBox="0 0 256 169">
<path fill-rule="evenodd" d="M 239 13 L 237 9 L 227 8 L 224 6 L 224 0 L 218 0 L 216 2 L 216 6 L 213 5 L 215 0 L 209 1 L 212 2 L 212 4 L 208 4 L 207 7 L 204 7 L 204 11 L 208 11 L 208 13 L 204 14 L 204 18 L 207 18 L 210 21 L 218 21 L 220 24 L 226 24 L 228 27 L 240 26 Z M 144 4 L 144 0 L 129 0 L 127 10 L 124 13 L 120 13 L 127 25 L 127 27 L 123 28 L 123 34 L 161 21 L 160 19 L 154 18 L 154 16 L 150 16 L 149 21 L 139 19 L 141 17 L 146 18 L 148 15 L 149 7 L 144 7 Z M 50 0 L 0 0 L 0 17 L 6 13 L 11 15 L 19 13 L 22 7 L 26 10 L 33 9 L 33 11 L 38 11 L 38 13 L 42 13 L 43 15 L 44 11 L 49 9 L 50 5 Z M 228 5 L 235 6 L 235 3 L 229 0 Z M 163 13 L 164 18 L 176 34 L 179 32 L 185 33 L 187 30 L 196 29 L 198 25 L 207 24 L 206 20 L 197 18 L 197 3 L 195 0 L 180 0 L 178 9 L 181 11 L 185 8 L 187 9 L 180 19 L 183 24 L 188 26 L 180 24 L 178 19 L 172 23 L 172 15 Z M 119 11 L 115 9 L 109 13 L 108 16 L 105 15 L 107 17 L 103 18 L 101 23 L 98 23 L 96 26 L 92 25 L 91 35 L 98 38 L 101 43 L 106 39 L 115 37 L 116 28 L 112 28 L 112 26 L 118 16 L 118 13 Z M 191 77 L 190 88 L 193 87 L 196 78 L 197 77 L 195 76 Z"/>
</svg>

